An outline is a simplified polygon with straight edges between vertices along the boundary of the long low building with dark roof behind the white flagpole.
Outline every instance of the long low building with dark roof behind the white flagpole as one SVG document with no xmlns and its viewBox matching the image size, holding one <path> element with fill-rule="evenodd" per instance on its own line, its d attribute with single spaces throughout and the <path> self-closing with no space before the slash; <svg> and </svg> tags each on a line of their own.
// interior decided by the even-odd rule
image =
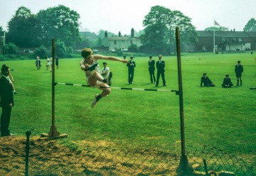
<svg viewBox="0 0 256 176">
<path fill-rule="evenodd" d="M 197 31 L 198 42 L 195 51 L 213 52 L 214 33 L 215 51 L 235 51 L 235 50 L 256 50 L 256 32 L 245 31 Z"/>
</svg>

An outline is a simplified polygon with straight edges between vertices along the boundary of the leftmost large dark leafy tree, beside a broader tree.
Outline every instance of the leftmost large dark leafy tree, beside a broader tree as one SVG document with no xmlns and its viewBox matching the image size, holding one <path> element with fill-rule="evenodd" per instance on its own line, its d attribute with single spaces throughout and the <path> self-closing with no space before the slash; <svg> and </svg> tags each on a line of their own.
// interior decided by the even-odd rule
<svg viewBox="0 0 256 176">
<path fill-rule="evenodd" d="M 19 7 L 11 21 L 8 23 L 8 32 L 6 33 L 6 43 L 15 43 L 18 47 L 38 46 L 37 36 L 38 21 L 36 16 L 26 7 Z"/>
</svg>

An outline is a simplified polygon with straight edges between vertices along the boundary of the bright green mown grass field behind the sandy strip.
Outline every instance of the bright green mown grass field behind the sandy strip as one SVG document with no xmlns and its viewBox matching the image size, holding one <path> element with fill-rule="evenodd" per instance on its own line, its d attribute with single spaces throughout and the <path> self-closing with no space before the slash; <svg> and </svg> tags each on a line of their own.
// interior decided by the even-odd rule
<svg viewBox="0 0 256 176">
<path fill-rule="evenodd" d="M 156 56 L 154 60 L 158 60 Z M 77 59 L 60 59 L 55 82 L 85 84 L 85 74 Z M 150 83 L 148 57 L 135 57 L 134 84 L 127 84 L 127 67 L 122 62 L 107 62 L 113 72 L 112 87 L 156 89 Z M 158 89 L 178 90 L 176 56 L 164 56 L 166 84 Z M 220 84 L 229 74 L 236 84 L 235 64 L 244 67 L 242 86 L 223 89 Z M 11 133 L 48 133 L 51 126 L 51 74 L 46 61 L 36 70 L 34 60 L 1 62 L 9 65 L 18 92 L 11 114 Z M 102 67 L 103 60 L 100 60 Z M 254 153 L 256 142 L 256 62 L 250 53 L 181 55 L 186 148 L 213 145 L 235 153 Z M 216 87 L 200 87 L 203 72 Z M 174 92 L 142 92 L 112 89 L 92 109 L 90 104 L 99 89 L 57 85 L 55 87 L 55 126 L 68 133 L 68 141 L 109 141 L 117 148 L 180 148 L 178 96 Z"/>
</svg>

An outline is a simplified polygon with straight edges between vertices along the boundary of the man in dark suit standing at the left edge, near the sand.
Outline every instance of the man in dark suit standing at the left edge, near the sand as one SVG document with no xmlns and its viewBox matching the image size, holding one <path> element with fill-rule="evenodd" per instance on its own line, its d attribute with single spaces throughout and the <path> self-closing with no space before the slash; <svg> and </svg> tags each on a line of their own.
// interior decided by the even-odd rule
<svg viewBox="0 0 256 176">
<path fill-rule="evenodd" d="M 0 96 L 1 96 L 1 136 L 10 136 L 9 123 L 11 119 L 11 108 L 14 106 L 14 94 L 9 81 L 10 68 L 6 65 L 1 67 Z"/>
</svg>

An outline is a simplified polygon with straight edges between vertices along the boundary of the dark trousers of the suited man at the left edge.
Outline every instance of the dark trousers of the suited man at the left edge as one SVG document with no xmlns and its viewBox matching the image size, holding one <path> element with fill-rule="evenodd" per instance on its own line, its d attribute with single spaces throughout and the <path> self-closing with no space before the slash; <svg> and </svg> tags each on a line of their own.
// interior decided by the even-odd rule
<svg viewBox="0 0 256 176">
<path fill-rule="evenodd" d="M 11 107 L 2 107 L 1 136 L 10 136 L 9 123 L 11 119 Z"/>
</svg>

